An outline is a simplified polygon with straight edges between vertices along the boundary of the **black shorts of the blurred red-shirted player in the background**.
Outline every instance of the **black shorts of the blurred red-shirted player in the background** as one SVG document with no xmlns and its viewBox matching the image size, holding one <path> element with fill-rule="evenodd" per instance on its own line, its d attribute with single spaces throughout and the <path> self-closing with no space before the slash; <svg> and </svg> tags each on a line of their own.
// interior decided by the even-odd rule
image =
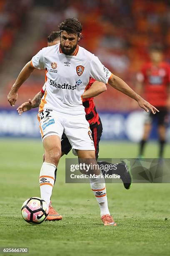
<svg viewBox="0 0 170 256">
<path fill-rule="evenodd" d="M 158 120 L 158 125 L 166 125 L 168 123 L 168 109 L 166 107 L 156 107 L 159 112 L 153 115 L 150 112 L 149 119 L 145 123 L 152 123 L 153 120 Z"/>
</svg>

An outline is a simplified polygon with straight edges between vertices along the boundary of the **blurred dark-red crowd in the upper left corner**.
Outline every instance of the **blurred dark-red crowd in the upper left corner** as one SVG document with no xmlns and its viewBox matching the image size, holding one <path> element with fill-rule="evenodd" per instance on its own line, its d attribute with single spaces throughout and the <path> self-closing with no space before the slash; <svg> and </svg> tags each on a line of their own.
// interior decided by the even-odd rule
<svg viewBox="0 0 170 256">
<path fill-rule="evenodd" d="M 0 0 L 0 65 L 10 54 L 31 3 L 31 0 Z"/>
</svg>

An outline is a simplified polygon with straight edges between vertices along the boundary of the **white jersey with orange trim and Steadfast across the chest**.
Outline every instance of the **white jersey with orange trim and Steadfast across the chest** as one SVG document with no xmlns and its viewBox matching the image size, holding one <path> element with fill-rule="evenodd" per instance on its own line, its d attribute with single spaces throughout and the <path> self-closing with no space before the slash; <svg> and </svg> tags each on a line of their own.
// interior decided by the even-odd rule
<svg viewBox="0 0 170 256">
<path fill-rule="evenodd" d="M 94 54 L 78 45 L 74 56 L 63 54 L 60 44 L 45 47 L 32 58 L 31 64 L 46 69 L 46 90 L 39 111 L 49 108 L 70 115 L 85 114 L 81 96 L 89 77 L 107 84 L 111 76 Z"/>
</svg>

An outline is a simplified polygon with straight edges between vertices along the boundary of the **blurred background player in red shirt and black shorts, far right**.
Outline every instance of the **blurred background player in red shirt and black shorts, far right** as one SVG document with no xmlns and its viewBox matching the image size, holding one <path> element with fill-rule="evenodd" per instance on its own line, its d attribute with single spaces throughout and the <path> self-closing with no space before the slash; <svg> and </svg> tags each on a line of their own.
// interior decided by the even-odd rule
<svg viewBox="0 0 170 256">
<path fill-rule="evenodd" d="M 170 65 L 163 61 L 163 48 L 159 44 L 150 46 L 150 61 L 137 74 L 136 91 L 144 93 L 146 100 L 159 108 L 159 113 L 150 112 L 145 117 L 143 138 L 140 141 L 139 157 L 143 157 L 144 147 L 150 135 L 153 120 L 158 120 L 159 158 L 163 157 L 166 142 L 166 122 L 170 109 Z"/>
</svg>

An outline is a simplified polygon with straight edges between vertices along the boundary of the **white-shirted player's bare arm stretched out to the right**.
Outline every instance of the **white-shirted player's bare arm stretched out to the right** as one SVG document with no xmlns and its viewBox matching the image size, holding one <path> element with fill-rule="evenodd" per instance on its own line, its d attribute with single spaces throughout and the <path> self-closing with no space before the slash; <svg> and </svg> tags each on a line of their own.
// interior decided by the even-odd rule
<svg viewBox="0 0 170 256">
<path fill-rule="evenodd" d="M 122 79 L 119 77 L 112 75 L 112 77 L 109 79 L 109 84 L 115 88 L 116 90 L 128 95 L 132 99 L 136 100 L 138 102 L 138 105 L 140 108 L 143 108 L 146 112 L 149 112 L 148 109 L 152 111 L 153 114 L 156 112 L 159 112 L 157 108 L 155 108 L 153 105 L 151 105 L 149 102 L 144 100 L 140 95 L 138 95 L 132 88 L 128 86 Z"/>
</svg>

